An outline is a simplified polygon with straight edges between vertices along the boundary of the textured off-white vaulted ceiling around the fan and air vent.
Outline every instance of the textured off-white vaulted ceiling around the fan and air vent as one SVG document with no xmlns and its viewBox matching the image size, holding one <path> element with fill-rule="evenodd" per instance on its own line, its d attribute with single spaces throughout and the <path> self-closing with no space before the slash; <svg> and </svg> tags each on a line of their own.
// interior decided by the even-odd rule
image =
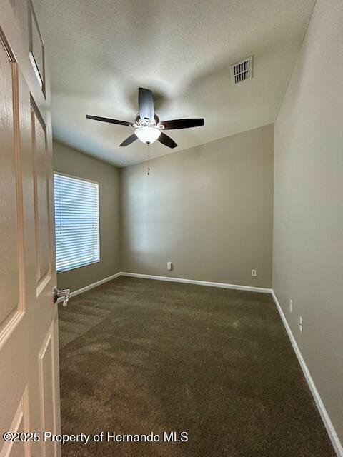
<svg viewBox="0 0 343 457">
<path fill-rule="evenodd" d="M 179 144 L 207 143 L 274 122 L 314 0 L 35 0 L 51 72 L 54 138 L 119 166 L 146 159 L 146 146 L 119 144 L 133 121 L 139 86 L 161 120 L 204 117 L 170 131 Z M 230 64 L 254 56 L 254 77 L 232 86 Z"/>
</svg>

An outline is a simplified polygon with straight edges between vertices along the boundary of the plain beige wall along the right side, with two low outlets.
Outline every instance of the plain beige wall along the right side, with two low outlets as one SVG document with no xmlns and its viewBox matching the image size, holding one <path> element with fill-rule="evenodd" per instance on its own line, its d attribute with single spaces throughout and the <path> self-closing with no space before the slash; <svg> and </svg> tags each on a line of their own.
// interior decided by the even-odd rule
<svg viewBox="0 0 343 457">
<path fill-rule="evenodd" d="M 342 0 L 317 1 L 275 124 L 273 273 L 274 291 L 341 441 L 342 24 Z"/>
</svg>

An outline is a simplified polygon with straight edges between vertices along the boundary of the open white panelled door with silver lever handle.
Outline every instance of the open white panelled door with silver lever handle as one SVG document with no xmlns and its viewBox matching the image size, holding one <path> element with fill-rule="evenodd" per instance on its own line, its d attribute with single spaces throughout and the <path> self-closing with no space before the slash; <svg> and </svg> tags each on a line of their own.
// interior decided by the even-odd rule
<svg viewBox="0 0 343 457">
<path fill-rule="evenodd" d="M 60 433 L 50 94 L 36 13 L 34 1 L 0 1 L 0 457 L 61 455 L 42 436 L 3 435 Z"/>
</svg>

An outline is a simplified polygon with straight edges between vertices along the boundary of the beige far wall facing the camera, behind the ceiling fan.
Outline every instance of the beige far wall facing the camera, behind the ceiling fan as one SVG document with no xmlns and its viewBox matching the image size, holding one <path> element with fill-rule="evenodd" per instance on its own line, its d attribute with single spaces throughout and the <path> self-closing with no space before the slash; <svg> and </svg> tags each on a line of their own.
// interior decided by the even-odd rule
<svg viewBox="0 0 343 457">
<path fill-rule="evenodd" d="M 150 166 L 149 176 L 146 163 L 121 170 L 122 271 L 269 288 L 274 126 Z"/>
</svg>

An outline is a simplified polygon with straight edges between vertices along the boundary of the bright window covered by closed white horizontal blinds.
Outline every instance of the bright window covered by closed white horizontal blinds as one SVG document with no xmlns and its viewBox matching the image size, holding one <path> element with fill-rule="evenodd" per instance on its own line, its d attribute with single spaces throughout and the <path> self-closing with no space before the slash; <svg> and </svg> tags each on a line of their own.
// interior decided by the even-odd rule
<svg viewBox="0 0 343 457">
<path fill-rule="evenodd" d="M 99 184 L 54 174 L 56 269 L 100 261 Z"/>
</svg>

